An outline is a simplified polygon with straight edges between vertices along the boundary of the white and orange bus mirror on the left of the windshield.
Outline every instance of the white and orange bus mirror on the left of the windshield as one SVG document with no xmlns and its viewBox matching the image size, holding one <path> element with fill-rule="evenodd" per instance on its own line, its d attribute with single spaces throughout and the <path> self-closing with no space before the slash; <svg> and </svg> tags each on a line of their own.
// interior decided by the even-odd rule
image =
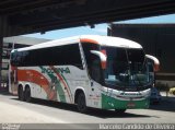
<svg viewBox="0 0 175 130">
<path fill-rule="evenodd" d="M 101 51 L 97 51 L 97 50 L 91 50 L 91 54 L 93 55 L 96 55 L 100 57 L 101 59 L 101 64 L 102 64 L 102 69 L 106 69 L 106 60 L 107 60 L 107 57 L 105 54 L 101 52 Z"/>
</svg>

